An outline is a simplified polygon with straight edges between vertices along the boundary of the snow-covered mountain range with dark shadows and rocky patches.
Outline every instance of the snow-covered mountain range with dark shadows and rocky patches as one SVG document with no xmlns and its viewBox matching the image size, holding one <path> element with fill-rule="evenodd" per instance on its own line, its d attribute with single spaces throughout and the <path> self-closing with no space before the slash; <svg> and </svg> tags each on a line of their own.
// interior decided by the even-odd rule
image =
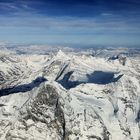
<svg viewBox="0 0 140 140">
<path fill-rule="evenodd" d="M 138 53 L 6 52 L 0 52 L 0 140 L 140 139 Z"/>
</svg>

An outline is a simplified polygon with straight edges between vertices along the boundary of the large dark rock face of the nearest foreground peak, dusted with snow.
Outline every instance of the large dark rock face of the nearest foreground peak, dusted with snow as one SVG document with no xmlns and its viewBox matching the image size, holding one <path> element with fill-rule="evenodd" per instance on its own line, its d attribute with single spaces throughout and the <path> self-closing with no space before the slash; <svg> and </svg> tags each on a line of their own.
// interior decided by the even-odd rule
<svg viewBox="0 0 140 140">
<path fill-rule="evenodd" d="M 54 87 L 43 86 L 33 101 L 27 107 L 28 115 L 34 121 L 46 123 L 58 133 L 61 139 L 65 139 L 65 117 L 62 103 Z"/>
</svg>

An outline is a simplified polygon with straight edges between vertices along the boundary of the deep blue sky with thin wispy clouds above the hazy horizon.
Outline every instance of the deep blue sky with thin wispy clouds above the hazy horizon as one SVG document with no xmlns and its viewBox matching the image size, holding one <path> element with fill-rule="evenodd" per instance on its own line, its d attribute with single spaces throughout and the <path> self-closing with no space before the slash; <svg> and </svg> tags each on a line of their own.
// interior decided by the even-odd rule
<svg viewBox="0 0 140 140">
<path fill-rule="evenodd" d="M 140 1 L 0 0 L 0 42 L 140 45 Z"/>
</svg>

